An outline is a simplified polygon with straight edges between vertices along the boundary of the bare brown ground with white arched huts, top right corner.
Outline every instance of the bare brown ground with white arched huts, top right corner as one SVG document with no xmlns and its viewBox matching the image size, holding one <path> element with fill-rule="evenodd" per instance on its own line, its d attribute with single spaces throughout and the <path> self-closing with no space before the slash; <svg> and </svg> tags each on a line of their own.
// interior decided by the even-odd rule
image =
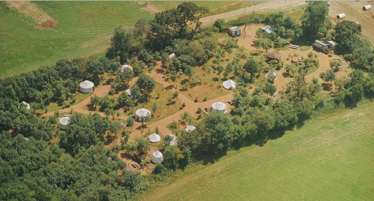
<svg viewBox="0 0 374 201">
<path fill-rule="evenodd" d="M 346 17 L 341 20 L 350 20 L 358 22 L 362 27 L 362 37 L 367 38 L 374 44 L 374 10 L 364 11 L 363 6 L 374 6 L 374 2 L 368 3 L 367 1 L 331 1 L 329 7 L 329 16 L 332 24 L 336 24 L 339 19 L 336 16 L 340 13 L 346 14 Z"/>
</svg>

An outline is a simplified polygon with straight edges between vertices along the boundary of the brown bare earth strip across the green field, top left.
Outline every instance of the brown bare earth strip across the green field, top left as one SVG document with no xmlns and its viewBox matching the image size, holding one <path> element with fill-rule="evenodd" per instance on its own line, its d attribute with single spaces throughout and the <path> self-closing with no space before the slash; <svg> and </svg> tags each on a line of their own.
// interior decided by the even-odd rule
<svg viewBox="0 0 374 201">
<path fill-rule="evenodd" d="M 31 1 L 6 1 L 10 8 L 16 9 L 19 13 L 30 16 L 38 24 L 40 29 L 51 29 L 58 24 L 58 21 L 51 18 L 46 12 L 39 9 L 38 5 Z"/>
</svg>

